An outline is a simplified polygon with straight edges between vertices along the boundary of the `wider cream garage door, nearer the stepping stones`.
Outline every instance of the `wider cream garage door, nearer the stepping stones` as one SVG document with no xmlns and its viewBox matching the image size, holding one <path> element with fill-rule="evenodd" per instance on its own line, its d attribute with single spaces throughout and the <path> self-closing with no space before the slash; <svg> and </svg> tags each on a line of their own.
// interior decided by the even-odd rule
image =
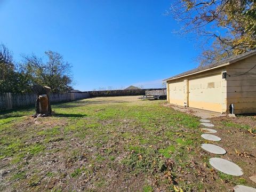
<svg viewBox="0 0 256 192">
<path fill-rule="evenodd" d="M 221 73 L 189 79 L 189 107 L 222 112 Z"/>
</svg>

